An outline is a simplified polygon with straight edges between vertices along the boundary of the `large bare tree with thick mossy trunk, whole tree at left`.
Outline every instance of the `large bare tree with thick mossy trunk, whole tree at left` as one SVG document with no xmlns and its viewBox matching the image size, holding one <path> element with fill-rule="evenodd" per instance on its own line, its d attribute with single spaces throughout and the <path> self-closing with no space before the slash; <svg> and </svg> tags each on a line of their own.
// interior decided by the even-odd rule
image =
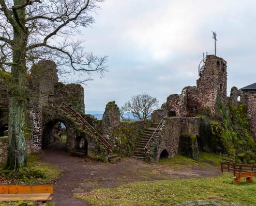
<svg viewBox="0 0 256 206">
<path fill-rule="evenodd" d="M 73 35 L 94 23 L 103 0 L 0 0 L 0 77 L 9 83 L 9 145 L 6 169 L 26 165 L 26 74 L 35 62 L 54 60 L 63 73 L 106 71 L 107 57 L 85 53 Z M 84 77 L 85 76 L 85 77 Z"/>
</svg>

